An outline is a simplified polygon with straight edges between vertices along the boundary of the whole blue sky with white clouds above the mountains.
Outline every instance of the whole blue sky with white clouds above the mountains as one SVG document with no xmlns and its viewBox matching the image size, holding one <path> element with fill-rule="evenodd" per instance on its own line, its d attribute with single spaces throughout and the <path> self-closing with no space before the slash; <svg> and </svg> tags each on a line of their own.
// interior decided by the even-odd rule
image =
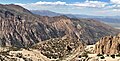
<svg viewBox="0 0 120 61">
<path fill-rule="evenodd" d="M 120 0 L 0 0 L 0 3 L 65 14 L 120 16 Z"/>
</svg>

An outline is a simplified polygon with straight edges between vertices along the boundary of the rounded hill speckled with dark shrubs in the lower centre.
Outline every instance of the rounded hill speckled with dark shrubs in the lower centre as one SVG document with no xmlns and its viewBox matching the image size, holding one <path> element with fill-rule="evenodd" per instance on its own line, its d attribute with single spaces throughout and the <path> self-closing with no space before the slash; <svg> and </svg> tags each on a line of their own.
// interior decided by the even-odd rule
<svg viewBox="0 0 120 61">
<path fill-rule="evenodd" d="M 51 39 L 43 44 L 35 45 L 32 48 L 41 50 L 41 53 L 48 58 L 61 59 L 70 55 L 80 44 L 69 39 Z"/>
</svg>

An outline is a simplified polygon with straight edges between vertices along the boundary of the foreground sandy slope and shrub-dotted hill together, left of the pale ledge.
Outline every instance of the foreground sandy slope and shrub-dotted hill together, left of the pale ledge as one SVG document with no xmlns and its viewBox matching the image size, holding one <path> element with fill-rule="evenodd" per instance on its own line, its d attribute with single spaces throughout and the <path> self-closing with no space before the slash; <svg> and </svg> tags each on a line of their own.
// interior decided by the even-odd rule
<svg viewBox="0 0 120 61">
<path fill-rule="evenodd" d="M 31 48 L 1 47 L 1 61 L 70 61 L 84 49 L 84 44 L 69 38 L 55 38 Z"/>
</svg>

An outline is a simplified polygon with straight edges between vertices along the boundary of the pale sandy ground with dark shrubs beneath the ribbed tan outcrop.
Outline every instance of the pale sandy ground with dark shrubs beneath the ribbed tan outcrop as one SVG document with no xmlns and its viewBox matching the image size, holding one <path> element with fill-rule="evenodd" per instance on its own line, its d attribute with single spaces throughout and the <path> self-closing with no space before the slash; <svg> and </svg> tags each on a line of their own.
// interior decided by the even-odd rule
<svg viewBox="0 0 120 61">
<path fill-rule="evenodd" d="M 74 61 L 120 61 L 120 53 L 117 54 L 97 54 L 93 51 L 95 45 L 88 45 L 83 52 L 81 52 Z"/>
</svg>

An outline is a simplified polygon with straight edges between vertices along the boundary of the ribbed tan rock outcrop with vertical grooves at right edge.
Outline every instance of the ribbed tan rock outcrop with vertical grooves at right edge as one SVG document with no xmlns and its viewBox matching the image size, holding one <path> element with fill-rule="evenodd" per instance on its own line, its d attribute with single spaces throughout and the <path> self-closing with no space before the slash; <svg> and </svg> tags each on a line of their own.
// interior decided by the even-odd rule
<svg viewBox="0 0 120 61">
<path fill-rule="evenodd" d="M 117 54 L 120 53 L 120 34 L 117 36 L 106 36 L 100 39 L 95 45 L 97 54 Z"/>
</svg>

